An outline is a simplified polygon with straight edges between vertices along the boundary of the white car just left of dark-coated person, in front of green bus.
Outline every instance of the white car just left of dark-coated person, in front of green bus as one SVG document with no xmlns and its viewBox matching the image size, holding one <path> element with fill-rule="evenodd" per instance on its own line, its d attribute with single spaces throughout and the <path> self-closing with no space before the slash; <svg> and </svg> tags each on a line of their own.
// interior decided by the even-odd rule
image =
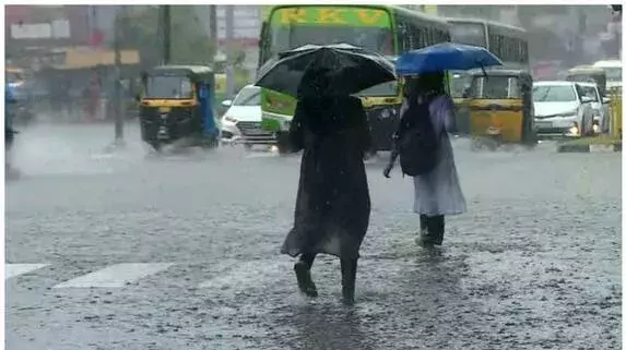
<svg viewBox="0 0 626 350">
<path fill-rule="evenodd" d="M 234 100 L 224 100 L 228 107 L 221 120 L 222 142 L 244 144 L 246 148 L 253 145 L 273 145 L 275 136 L 261 128 L 261 88 L 246 85 Z"/>
</svg>

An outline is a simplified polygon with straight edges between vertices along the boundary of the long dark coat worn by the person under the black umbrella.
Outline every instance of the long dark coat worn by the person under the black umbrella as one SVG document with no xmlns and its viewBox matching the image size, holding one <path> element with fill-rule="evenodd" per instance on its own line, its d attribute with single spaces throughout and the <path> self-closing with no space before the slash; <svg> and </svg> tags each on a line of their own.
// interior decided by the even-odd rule
<svg viewBox="0 0 626 350">
<path fill-rule="evenodd" d="M 304 154 L 294 227 L 281 252 L 357 258 L 370 210 L 363 162 L 370 136 L 361 100 L 302 98 L 290 134 L 294 150 Z"/>
</svg>

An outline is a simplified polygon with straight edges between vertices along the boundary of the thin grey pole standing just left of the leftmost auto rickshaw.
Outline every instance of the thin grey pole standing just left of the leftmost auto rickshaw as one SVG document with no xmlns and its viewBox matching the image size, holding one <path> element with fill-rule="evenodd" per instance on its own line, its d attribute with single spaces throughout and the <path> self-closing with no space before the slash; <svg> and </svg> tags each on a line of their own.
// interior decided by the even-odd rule
<svg viewBox="0 0 626 350">
<path fill-rule="evenodd" d="M 122 23 L 127 21 L 126 5 L 121 5 L 118 15 L 120 21 L 115 26 L 114 49 L 115 49 L 115 81 L 114 81 L 114 111 L 115 111 L 115 144 L 123 144 L 123 120 L 126 108 L 122 107 L 121 96 L 121 40 Z"/>
</svg>

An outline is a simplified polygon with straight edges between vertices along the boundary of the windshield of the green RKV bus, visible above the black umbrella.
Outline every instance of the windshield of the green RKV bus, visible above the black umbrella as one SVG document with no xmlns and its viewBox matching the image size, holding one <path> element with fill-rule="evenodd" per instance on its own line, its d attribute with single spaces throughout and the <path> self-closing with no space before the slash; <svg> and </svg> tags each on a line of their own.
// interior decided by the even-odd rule
<svg viewBox="0 0 626 350">
<path fill-rule="evenodd" d="M 328 25 L 292 25 L 272 28 L 272 52 L 297 47 L 330 44 L 351 44 L 381 55 L 392 55 L 392 35 L 389 28 Z"/>
</svg>

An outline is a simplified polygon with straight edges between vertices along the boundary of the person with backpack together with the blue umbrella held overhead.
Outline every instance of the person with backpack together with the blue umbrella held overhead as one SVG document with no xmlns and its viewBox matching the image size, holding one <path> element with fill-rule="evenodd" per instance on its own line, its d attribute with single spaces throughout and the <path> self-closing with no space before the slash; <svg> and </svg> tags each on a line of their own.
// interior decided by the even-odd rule
<svg viewBox="0 0 626 350">
<path fill-rule="evenodd" d="M 402 171 L 413 177 L 413 210 L 420 214 L 416 242 L 423 246 L 440 245 L 445 217 L 466 210 L 448 136 L 456 118 L 444 72 L 476 68 L 485 72 L 485 67 L 501 64 L 484 48 L 452 43 L 409 51 L 395 62 L 395 74 L 406 80 L 406 94 L 395 133 L 397 147 L 383 174 L 389 178 L 400 156 Z"/>
</svg>

